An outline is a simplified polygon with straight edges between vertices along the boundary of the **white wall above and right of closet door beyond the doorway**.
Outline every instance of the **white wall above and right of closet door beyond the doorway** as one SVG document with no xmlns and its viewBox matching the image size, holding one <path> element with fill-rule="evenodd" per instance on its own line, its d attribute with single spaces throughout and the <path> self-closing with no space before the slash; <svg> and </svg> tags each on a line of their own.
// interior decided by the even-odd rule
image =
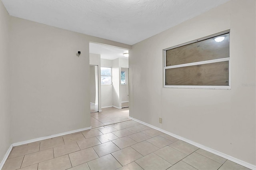
<svg viewBox="0 0 256 170">
<path fill-rule="evenodd" d="M 101 67 L 101 63 L 100 63 L 100 55 L 99 54 L 93 54 L 90 53 L 90 65 L 98 65 L 98 109 L 99 112 L 101 112 L 101 107 L 102 107 L 102 103 L 101 103 L 101 84 L 100 84 L 100 67 Z"/>
</svg>

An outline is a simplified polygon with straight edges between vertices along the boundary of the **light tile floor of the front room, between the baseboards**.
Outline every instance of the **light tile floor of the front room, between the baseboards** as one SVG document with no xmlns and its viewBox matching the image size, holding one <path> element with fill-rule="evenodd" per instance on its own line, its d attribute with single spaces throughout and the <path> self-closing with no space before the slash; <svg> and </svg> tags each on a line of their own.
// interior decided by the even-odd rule
<svg viewBox="0 0 256 170">
<path fill-rule="evenodd" d="M 248 170 L 135 121 L 12 149 L 2 170 Z"/>
</svg>

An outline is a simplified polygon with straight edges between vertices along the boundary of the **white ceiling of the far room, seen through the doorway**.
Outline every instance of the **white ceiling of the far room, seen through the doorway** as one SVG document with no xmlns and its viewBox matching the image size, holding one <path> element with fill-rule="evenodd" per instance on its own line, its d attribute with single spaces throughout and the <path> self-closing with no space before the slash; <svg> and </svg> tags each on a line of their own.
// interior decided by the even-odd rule
<svg viewBox="0 0 256 170">
<path fill-rule="evenodd" d="M 90 53 L 100 54 L 102 59 L 116 59 L 116 58 L 127 58 L 124 57 L 123 53 L 128 53 L 127 49 L 117 48 L 109 45 L 102 45 L 97 43 L 90 43 Z"/>
</svg>

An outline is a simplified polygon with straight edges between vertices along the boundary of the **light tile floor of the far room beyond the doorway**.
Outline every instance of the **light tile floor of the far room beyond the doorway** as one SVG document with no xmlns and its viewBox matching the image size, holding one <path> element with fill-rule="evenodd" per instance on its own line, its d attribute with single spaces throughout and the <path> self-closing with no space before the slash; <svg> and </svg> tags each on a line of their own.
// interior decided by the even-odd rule
<svg viewBox="0 0 256 170">
<path fill-rule="evenodd" d="M 129 107 L 116 109 L 114 107 L 103 108 L 102 112 L 91 113 L 91 125 L 94 127 L 102 127 L 112 125 L 122 121 L 128 121 Z"/>
</svg>

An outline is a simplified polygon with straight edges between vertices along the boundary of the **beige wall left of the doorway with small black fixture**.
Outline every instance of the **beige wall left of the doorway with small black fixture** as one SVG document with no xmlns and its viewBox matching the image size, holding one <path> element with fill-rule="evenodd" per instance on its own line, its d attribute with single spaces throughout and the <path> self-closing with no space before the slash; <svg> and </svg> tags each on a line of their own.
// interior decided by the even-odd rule
<svg viewBox="0 0 256 170">
<path fill-rule="evenodd" d="M 89 42 L 129 48 L 11 17 L 12 143 L 90 127 Z"/>
</svg>

